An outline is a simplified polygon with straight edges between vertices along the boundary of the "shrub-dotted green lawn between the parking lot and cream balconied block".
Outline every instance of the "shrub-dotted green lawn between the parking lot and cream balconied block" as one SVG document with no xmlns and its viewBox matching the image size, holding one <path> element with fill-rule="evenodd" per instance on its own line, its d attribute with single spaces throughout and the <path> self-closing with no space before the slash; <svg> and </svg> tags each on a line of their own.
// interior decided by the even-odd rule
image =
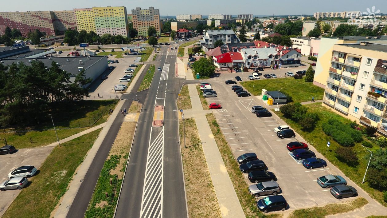
<svg viewBox="0 0 387 218">
<path fill-rule="evenodd" d="M 387 203 L 383 201 L 383 192 L 369 187 L 367 183 L 367 178 L 364 184 L 361 183 L 368 164 L 368 160 L 370 159 L 370 153 L 361 146 L 361 143 L 355 143 L 353 150 L 359 158 L 359 165 L 349 166 L 346 163 L 339 161 L 336 157 L 336 153 L 334 151 L 339 148 L 340 145 L 335 142 L 332 137 L 325 135 L 325 133 L 322 131 L 322 124 L 327 122 L 327 120 L 330 118 L 340 120 L 343 123 L 349 123 L 350 120 L 341 117 L 340 115 L 332 112 L 328 108 L 325 108 L 321 105 L 321 103 L 313 103 L 305 106 L 308 108 L 308 112 L 315 112 L 319 114 L 320 120 L 317 122 L 315 129 L 312 131 L 303 131 L 298 123 L 288 118 L 285 118 L 281 112 L 273 112 L 276 113 L 282 120 L 284 120 L 286 124 L 288 124 L 292 129 L 298 132 L 298 134 L 300 134 L 305 140 L 307 140 L 308 144 L 311 144 L 317 151 L 324 155 L 323 159 L 329 160 L 332 164 L 339 168 L 347 177 L 349 177 L 349 179 L 351 179 L 362 189 L 364 189 L 368 194 L 370 194 L 371 197 L 376 199 L 380 204 L 387 206 Z M 327 151 L 328 141 L 330 142 L 330 147 Z M 378 146 L 375 145 L 370 150 L 376 151 L 377 149 Z"/>
</svg>

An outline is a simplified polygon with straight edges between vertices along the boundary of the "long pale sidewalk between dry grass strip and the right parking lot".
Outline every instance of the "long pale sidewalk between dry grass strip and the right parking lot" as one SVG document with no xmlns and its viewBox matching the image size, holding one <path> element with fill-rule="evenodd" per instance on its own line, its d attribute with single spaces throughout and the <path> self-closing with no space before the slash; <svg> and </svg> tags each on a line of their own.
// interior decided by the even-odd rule
<svg viewBox="0 0 387 218">
<path fill-rule="evenodd" d="M 211 113 L 211 110 L 203 110 L 195 84 L 188 84 L 188 91 L 190 93 L 192 109 L 185 111 L 186 118 L 195 117 L 196 126 L 198 127 L 200 140 L 203 142 L 202 146 L 205 159 L 211 174 L 212 184 L 214 185 L 222 217 L 245 217 L 222 156 L 219 153 L 214 136 L 209 134 L 211 129 L 208 125 L 205 113 Z"/>
</svg>

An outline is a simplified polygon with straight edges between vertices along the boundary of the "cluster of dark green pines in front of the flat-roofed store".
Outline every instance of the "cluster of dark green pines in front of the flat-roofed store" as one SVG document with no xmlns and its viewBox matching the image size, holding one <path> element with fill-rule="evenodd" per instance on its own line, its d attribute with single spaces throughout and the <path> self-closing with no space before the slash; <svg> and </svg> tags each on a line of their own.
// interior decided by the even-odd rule
<svg viewBox="0 0 387 218">
<path fill-rule="evenodd" d="M 86 84 L 92 82 L 82 69 L 70 82 L 70 73 L 54 61 L 46 66 L 33 60 L 31 65 L 0 63 L 0 125 L 34 125 L 48 122 L 47 113 L 64 115 L 74 101 L 89 97 Z"/>
</svg>

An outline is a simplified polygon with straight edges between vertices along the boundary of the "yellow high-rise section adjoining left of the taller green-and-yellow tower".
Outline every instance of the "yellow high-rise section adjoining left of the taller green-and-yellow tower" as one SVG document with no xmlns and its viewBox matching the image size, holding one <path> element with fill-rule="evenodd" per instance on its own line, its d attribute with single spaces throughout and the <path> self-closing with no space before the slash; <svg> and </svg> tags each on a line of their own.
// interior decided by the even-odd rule
<svg viewBox="0 0 387 218">
<path fill-rule="evenodd" d="M 87 33 L 90 31 L 96 32 L 96 22 L 94 20 L 94 12 L 89 9 L 74 9 L 75 20 L 77 22 L 77 30 L 84 30 Z"/>
</svg>

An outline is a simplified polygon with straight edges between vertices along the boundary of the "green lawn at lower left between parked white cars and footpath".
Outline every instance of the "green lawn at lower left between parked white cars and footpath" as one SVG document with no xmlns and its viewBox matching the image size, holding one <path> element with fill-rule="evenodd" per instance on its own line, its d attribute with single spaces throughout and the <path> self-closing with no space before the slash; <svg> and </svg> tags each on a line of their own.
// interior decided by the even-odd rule
<svg viewBox="0 0 387 218">
<path fill-rule="evenodd" d="M 34 176 L 5 211 L 3 218 L 50 217 L 51 211 L 66 193 L 75 170 L 92 147 L 100 129 L 63 143 L 53 149 Z M 21 209 L 21 205 L 22 208 Z"/>
</svg>

